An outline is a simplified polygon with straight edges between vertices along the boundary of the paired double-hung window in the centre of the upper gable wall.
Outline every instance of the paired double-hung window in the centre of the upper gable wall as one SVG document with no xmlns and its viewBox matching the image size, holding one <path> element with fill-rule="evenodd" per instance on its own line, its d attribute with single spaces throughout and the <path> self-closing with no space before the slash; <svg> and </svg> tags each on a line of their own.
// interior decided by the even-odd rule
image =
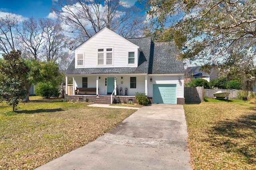
<svg viewBox="0 0 256 170">
<path fill-rule="evenodd" d="M 113 48 L 98 49 L 98 65 L 113 64 Z"/>
</svg>

